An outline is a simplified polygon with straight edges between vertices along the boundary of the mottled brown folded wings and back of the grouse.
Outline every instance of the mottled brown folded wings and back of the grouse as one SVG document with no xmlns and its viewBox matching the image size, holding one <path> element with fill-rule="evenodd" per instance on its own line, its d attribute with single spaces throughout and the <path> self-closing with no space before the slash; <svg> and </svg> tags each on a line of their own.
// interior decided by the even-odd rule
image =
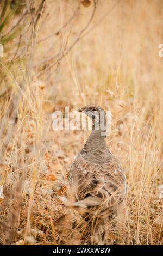
<svg viewBox="0 0 163 256">
<path fill-rule="evenodd" d="M 126 193 L 126 179 L 114 156 L 103 164 L 77 157 L 70 169 L 70 186 L 77 200 L 95 197 L 98 202 L 106 200 L 108 207 L 122 202 Z"/>
</svg>

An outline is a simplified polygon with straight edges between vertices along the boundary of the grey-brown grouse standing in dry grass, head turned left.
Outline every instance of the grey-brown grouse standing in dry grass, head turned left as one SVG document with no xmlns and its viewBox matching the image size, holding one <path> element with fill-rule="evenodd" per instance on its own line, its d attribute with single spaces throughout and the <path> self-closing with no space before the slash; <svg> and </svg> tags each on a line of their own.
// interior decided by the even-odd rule
<svg viewBox="0 0 163 256">
<path fill-rule="evenodd" d="M 92 120 L 92 131 L 70 167 L 68 179 L 71 206 L 92 227 L 92 244 L 104 245 L 107 223 L 121 209 L 126 194 L 126 176 L 117 157 L 106 144 L 107 116 L 96 104 L 78 109 Z M 103 127 L 102 127 L 103 124 Z"/>
</svg>

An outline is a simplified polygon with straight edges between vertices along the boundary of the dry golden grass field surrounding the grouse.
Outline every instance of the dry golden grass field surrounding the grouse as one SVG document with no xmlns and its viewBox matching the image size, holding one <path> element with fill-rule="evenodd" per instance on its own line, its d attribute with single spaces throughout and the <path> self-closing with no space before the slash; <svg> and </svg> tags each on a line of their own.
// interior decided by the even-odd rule
<svg viewBox="0 0 163 256">
<path fill-rule="evenodd" d="M 28 47 L 30 33 L 23 34 L 24 58 L 11 67 L 17 38 L 4 45 L 0 243 L 91 243 L 86 222 L 61 202 L 90 131 L 53 131 L 52 113 L 97 103 L 111 111 L 106 139 L 128 186 L 123 227 L 108 223 L 108 244 L 163 245 L 163 3 L 99 0 L 94 13 L 92 0 L 78 4 L 45 1 Z"/>
</svg>

